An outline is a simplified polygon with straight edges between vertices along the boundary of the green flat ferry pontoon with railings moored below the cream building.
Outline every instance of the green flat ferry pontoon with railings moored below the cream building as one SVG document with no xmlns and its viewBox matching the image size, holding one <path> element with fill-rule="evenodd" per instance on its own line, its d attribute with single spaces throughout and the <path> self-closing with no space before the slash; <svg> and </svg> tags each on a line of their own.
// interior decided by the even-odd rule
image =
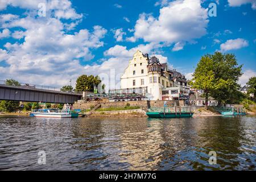
<svg viewBox="0 0 256 182">
<path fill-rule="evenodd" d="M 183 106 L 151 108 L 146 114 L 150 118 L 185 118 L 192 117 L 194 113 L 191 111 L 191 107 Z"/>
</svg>

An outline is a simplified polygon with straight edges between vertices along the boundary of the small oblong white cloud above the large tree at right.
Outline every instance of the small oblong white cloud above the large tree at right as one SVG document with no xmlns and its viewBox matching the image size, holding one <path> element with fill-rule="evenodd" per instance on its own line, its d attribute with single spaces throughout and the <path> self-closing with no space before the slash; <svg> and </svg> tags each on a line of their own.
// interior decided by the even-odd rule
<svg viewBox="0 0 256 182">
<path fill-rule="evenodd" d="M 221 51 L 229 51 L 234 49 L 240 49 L 242 47 L 249 46 L 249 43 L 245 39 L 230 39 L 227 40 L 225 43 L 221 44 L 220 48 Z"/>
</svg>

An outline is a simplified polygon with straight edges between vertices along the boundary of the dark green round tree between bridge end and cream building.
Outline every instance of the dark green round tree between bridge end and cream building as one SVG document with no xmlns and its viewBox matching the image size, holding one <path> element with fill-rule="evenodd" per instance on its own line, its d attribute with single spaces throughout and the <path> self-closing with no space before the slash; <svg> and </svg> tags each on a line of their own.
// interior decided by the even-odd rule
<svg viewBox="0 0 256 182">
<path fill-rule="evenodd" d="M 93 92 L 94 87 L 101 83 L 100 77 L 98 76 L 87 76 L 87 75 L 81 75 L 76 80 L 76 91 L 82 92 L 82 91 L 89 91 Z"/>
</svg>

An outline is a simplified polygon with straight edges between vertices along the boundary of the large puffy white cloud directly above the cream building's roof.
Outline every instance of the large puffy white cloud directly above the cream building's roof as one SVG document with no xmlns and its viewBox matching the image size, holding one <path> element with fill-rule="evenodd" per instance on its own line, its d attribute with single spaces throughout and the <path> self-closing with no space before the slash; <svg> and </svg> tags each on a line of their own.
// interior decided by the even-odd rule
<svg viewBox="0 0 256 182">
<path fill-rule="evenodd" d="M 141 14 L 135 24 L 134 37 L 145 42 L 191 42 L 207 33 L 207 9 L 200 0 L 177 0 L 160 9 L 159 17 Z M 188 31 L 189 30 L 189 31 Z"/>
</svg>

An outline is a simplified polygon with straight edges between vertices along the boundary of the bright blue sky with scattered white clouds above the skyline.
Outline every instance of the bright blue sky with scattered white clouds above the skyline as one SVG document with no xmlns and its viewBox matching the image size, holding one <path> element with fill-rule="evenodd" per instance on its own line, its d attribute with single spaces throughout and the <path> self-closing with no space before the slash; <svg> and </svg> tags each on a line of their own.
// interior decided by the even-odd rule
<svg viewBox="0 0 256 182">
<path fill-rule="evenodd" d="M 38 14 L 42 2 L 46 16 Z M 216 17 L 208 15 L 212 2 L 217 5 Z M 256 75 L 256 1 L 0 4 L 0 79 L 63 86 L 82 74 L 114 74 L 118 82 L 137 49 L 155 52 L 162 63 L 188 78 L 204 54 L 234 53 L 243 64 L 240 83 L 245 84 Z"/>
</svg>

